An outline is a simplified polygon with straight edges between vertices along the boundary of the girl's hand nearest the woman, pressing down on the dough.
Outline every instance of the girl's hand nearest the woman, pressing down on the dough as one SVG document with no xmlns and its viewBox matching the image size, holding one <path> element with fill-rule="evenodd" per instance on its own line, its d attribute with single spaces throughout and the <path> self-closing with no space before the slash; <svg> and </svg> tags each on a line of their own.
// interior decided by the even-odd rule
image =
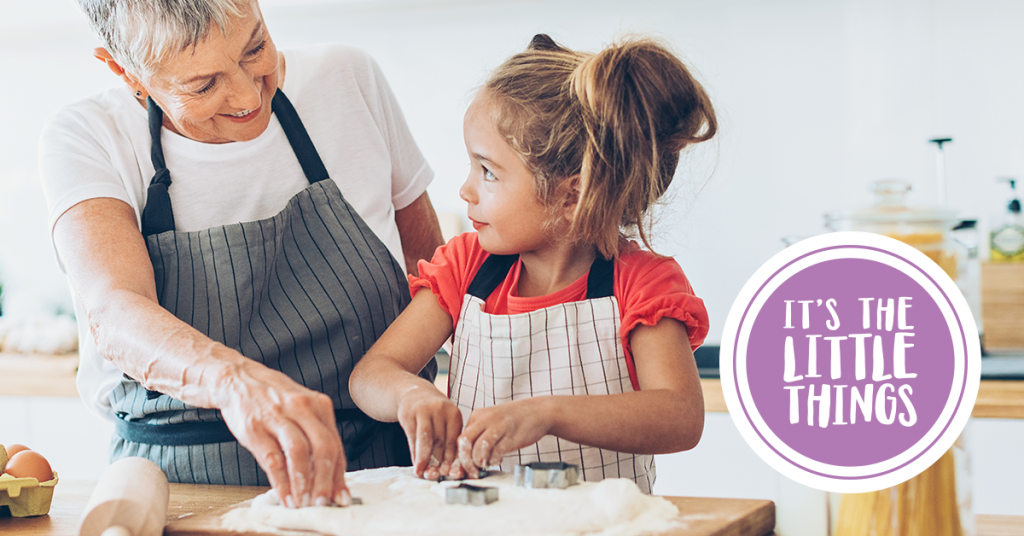
<svg viewBox="0 0 1024 536">
<path fill-rule="evenodd" d="M 456 461 L 462 412 L 437 387 L 424 381 L 398 399 L 398 423 L 409 438 L 416 476 L 437 480 Z"/>
</svg>

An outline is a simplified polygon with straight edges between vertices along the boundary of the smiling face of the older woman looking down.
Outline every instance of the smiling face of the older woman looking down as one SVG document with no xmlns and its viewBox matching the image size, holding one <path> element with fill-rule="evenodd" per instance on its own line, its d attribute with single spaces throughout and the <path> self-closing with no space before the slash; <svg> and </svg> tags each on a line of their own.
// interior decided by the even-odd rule
<svg viewBox="0 0 1024 536">
<path fill-rule="evenodd" d="M 164 126 L 197 141 L 248 141 L 270 123 L 279 54 L 256 2 L 226 26 L 164 61 L 145 87 Z"/>
</svg>

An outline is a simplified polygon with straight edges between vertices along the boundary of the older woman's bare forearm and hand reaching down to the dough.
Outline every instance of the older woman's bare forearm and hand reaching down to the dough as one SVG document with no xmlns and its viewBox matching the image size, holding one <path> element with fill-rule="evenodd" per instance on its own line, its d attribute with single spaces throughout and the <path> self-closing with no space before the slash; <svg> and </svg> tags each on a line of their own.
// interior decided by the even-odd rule
<svg viewBox="0 0 1024 536">
<path fill-rule="evenodd" d="M 228 428 L 291 505 L 348 502 L 331 399 L 181 322 L 157 300 L 135 212 L 109 198 L 56 221 L 57 252 L 99 354 L 146 388 L 221 410 Z"/>
</svg>

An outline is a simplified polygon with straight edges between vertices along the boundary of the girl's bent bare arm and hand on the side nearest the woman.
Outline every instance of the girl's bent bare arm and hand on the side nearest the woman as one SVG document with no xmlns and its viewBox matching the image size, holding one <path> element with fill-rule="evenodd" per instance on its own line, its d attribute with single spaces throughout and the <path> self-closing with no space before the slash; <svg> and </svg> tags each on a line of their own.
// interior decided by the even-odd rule
<svg viewBox="0 0 1024 536">
<path fill-rule="evenodd" d="M 421 289 L 348 378 L 348 391 L 359 409 L 377 420 L 401 424 L 416 475 L 431 480 L 446 475 L 456 461 L 462 413 L 417 374 L 452 330 L 452 317 L 430 290 Z"/>
</svg>

